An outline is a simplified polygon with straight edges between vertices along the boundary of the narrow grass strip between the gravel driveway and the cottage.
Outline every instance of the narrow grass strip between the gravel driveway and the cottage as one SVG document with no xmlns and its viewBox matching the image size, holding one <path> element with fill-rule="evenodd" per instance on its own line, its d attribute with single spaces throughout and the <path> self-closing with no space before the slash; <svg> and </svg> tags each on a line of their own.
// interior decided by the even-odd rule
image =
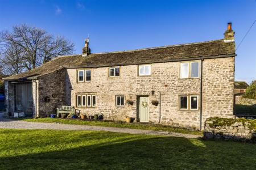
<svg viewBox="0 0 256 170">
<path fill-rule="evenodd" d="M 124 122 L 84 121 L 84 120 L 71 120 L 71 119 L 61 119 L 61 118 L 22 118 L 21 120 L 28 121 L 28 122 L 47 122 L 47 123 L 57 122 L 60 124 L 107 126 L 107 127 L 115 127 L 115 128 L 130 128 L 130 129 L 144 129 L 144 130 L 161 130 L 161 131 L 171 131 L 171 132 L 184 133 L 184 134 L 203 135 L 201 131 L 174 128 L 171 126 L 154 125 L 154 124 L 126 124 Z"/>
</svg>

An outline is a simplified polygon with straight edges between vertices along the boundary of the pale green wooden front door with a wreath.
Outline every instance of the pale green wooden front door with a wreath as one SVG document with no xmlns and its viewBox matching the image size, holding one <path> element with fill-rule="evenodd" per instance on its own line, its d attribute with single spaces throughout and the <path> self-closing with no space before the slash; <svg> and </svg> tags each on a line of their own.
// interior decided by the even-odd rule
<svg viewBox="0 0 256 170">
<path fill-rule="evenodd" d="M 139 121 L 148 122 L 148 97 L 139 97 Z"/>
</svg>

